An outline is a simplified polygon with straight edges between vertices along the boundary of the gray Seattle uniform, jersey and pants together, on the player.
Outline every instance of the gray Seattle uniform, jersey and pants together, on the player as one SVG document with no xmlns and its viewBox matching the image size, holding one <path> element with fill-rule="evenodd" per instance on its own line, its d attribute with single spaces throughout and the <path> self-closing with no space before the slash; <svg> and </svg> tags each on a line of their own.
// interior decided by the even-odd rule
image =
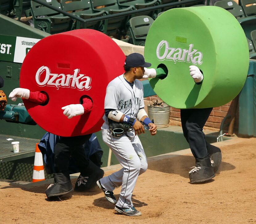
<svg viewBox="0 0 256 224">
<path fill-rule="evenodd" d="M 140 81 L 135 80 L 133 87 L 131 87 L 123 75 L 120 75 L 109 82 L 105 96 L 105 109 L 119 110 L 131 118 L 136 118 L 142 107 L 144 107 L 143 86 Z M 138 175 L 147 170 L 147 158 L 134 130 L 128 131 L 120 138 L 114 138 L 108 130 L 109 125 L 105 115 L 103 119 L 105 122 L 101 127 L 102 139 L 123 168 L 101 178 L 101 185 L 109 191 L 122 185 L 116 206 L 131 208 L 133 206 L 132 192 Z"/>
</svg>

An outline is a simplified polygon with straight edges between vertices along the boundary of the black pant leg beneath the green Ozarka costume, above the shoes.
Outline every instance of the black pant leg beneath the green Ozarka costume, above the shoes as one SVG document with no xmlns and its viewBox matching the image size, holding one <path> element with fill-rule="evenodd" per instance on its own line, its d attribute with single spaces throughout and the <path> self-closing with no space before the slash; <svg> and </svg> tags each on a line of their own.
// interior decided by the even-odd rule
<svg viewBox="0 0 256 224">
<path fill-rule="evenodd" d="M 183 134 L 195 158 L 202 158 L 208 154 L 203 127 L 212 110 L 212 107 L 180 110 Z"/>
</svg>

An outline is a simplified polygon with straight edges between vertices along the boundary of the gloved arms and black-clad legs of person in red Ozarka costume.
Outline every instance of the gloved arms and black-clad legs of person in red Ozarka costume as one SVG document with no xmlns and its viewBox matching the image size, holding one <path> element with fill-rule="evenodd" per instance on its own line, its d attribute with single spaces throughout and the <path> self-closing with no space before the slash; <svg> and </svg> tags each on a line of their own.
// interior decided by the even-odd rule
<svg viewBox="0 0 256 224">
<path fill-rule="evenodd" d="M 25 98 L 31 102 L 44 105 L 48 102 L 47 94 L 43 92 L 32 92 L 24 88 L 14 89 L 9 98 L 16 101 L 17 98 Z M 88 113 L 93 106 L 92 100 L 84 96 L 82 98 L 83 104 L 70 104 L 62 107 L 63 114 L 71 119 L 74 116 L 79 116 Z M 62 196 L 73 191 L 72 183 L 70 181 L 68 163 L 69 157 L 75 158 L 77 166 L 80 170 L 80 175 L 75 184 L 76 191 L 85 191 L 96 186 L 96 181 L 103 177 L 104 171 L 96 166 L 93 162 L 87 159 L 83 144 L 89 140 L 91 134 L 74 136 L 74 137 L 60 137 L 59 142 L 54 146 L 54 183 L 50 184 L 46 189 L 47 198 Z"/>
</svg>

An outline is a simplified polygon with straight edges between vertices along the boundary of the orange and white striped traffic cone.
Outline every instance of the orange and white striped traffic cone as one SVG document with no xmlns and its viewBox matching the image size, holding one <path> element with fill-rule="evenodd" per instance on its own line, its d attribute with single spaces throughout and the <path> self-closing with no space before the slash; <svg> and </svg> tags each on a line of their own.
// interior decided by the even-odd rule
<svg viewBox="0 0 256 224">
<path fill-rule="evenodd" d="M 45 180 L 44 170 L 43 170 L 43 155 L 38 148 L 38 143 L 35 145 L 35 161 L 33 169 L 33 179 L 32 182 L 38 182 Z"/>
</svg>

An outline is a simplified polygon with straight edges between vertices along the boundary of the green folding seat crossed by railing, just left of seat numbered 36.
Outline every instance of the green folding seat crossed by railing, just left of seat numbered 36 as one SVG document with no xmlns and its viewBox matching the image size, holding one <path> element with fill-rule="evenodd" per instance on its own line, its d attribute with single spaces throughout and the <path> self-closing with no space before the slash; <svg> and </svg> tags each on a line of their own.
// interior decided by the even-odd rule
<svg viewBox="0 0 256 224">
<path fill-rule="evenodd" d="M 122 7 L 118 5 L 117 0 L 93 0 L 92 1 L 93 10 L 95 11 L 106 11 L 107 14 L 117 14 L 121 12 L 127 12 L 133 10 L 133 6 Z M 103 6 L 102 8 L 99 8 Z M 102 29 L 99 29 L 103 33 L 109 36 L 120 36 L 125 31 L 125 24 L 129 20 L 130 16 L 121 16 L 116 18 L 111 18 L 104 20 Z M 118 38 L 119 39 L 119 38 Z"/>
</svg>

